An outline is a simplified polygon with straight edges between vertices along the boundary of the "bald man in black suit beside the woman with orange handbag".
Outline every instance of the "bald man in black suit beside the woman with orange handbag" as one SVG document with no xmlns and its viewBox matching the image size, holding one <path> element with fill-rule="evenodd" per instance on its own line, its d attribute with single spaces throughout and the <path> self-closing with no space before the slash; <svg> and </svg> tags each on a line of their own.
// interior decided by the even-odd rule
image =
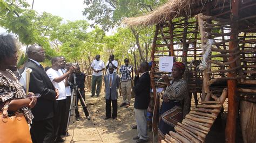
<svg viewBox="0 0 256 143">
<path fill-rule="evenodd" d="M 29 60 L 25 67 L 31 68 L 29 91 L 41 94 L 37 99 L 37 105 L 32 109 L 33 116 L 30 133 L 33 142 L 54 142 L 55 132 L 53 116 L 58 91 L 53 86 L 50 78 L 45 73 L 39 62 L 45 59 L 44 49 L 38 45 L 32 45 L 27 51 Z"/>
</svg>

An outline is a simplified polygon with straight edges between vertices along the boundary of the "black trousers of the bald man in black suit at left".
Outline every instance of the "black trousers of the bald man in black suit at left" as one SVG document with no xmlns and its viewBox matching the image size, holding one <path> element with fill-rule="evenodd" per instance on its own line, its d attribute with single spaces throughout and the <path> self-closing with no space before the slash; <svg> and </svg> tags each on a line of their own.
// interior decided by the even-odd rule
<svg viewBox="0 0 256 143">
<path fill-rule="evenodd" d="M 33 121 L 33 124 L 31 124 L 30 128 L 30 134 L 33 143 L 54 142 L 55 131 L 53 125 L 53 118 L 40 121 Z"/>
</svg>

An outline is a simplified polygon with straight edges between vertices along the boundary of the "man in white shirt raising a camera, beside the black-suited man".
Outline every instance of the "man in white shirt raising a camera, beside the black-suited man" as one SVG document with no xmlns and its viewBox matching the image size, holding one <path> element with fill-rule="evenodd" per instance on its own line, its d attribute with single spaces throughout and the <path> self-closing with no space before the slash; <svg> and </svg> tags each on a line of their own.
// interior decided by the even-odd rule
<svg viewBox="0 0 256 143">
<path fill-rule="evenodd" d="M 63 61 L 60 57 L 54 57 L 51 60 L 52 68 L 46 71 L 52 84 L 59 91 L 59 98 L 56 103 L 56 115 L 55 115 L 55 131 L 56 131 L 56 142 L 63 142 L 64 140 L 60 137 L 62 131 L 64 130 L 64 118 L 66 111 L 66 92 L 65 92 L 65 78 L 68 77 L 76 69 L 76 66 L 71 66 L 70 70 L 65 74 L 60 74 L 59 69 L 63 65 Z"/>
</svg>

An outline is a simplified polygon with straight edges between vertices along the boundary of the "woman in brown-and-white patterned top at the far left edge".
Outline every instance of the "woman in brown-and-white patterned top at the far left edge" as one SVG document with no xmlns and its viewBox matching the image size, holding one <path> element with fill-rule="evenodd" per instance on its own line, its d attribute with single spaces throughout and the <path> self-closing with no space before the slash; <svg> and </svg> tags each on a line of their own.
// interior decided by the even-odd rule
<svg viewBox="0 0 256 143">
<path fill-rule="evenodd" d="M 23 113 L 28 124 L 32 123 L 31 108 L 36 105 L 37 99 L 33 93 L 25 94 L 17 77 L 8 68 L 16 65 L 18 60 L 16 40 L 11 35 L 0 35 L 0 109 L 9 102 L 8 116 L 14 112 Z M 2 130 L 2 129 L 1 129 Z M 3 134 L 4 135 L 4 134 Z M 0 135 L 1 138 L 2 134 Z"/>
</svg>

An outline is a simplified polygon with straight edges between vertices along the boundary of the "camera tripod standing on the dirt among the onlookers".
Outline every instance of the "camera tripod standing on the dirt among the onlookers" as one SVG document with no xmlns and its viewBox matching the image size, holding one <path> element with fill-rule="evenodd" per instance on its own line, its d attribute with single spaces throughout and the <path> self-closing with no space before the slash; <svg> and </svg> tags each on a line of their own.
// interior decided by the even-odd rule
<svg viewBox="0 0 256 143">
<path fill-rule="evenodd" d="M 73 73 L 73 84 L 72 84 L 72 94 L 71 94 L 71 104 L 70 104 L 70 107 L 69 107 L 69 117 L 68 117 L 68 124 L 66 125 L 66 134 L 65 134 L 65 138 L 67 137 L 68 135 L 68 129 L 69 129 L 69 121 L 70 121 L 70 116 L 71 116 L 71 110 L 73 110 L 73 123 L 75 123 L 75 110 L 78 109 L 78 100 L 77 100 L 77 96 L 80 96 L 80 102 L 83 102 L 83 104 L 85 106 L 82 106 L 81 108 L 85 108 L 86 107 L 86 103 L 84 101 L 84 98 L 80 92 L 80 90 L 78 89 L 78 86 L 77 86 L 77 83 L 76 83 L 76 74 Z M 78 93 L 78 95 L 77 95 Z M 72 105 L 73 105 L 73 108 L 72 108 Z"/>
</svg>

